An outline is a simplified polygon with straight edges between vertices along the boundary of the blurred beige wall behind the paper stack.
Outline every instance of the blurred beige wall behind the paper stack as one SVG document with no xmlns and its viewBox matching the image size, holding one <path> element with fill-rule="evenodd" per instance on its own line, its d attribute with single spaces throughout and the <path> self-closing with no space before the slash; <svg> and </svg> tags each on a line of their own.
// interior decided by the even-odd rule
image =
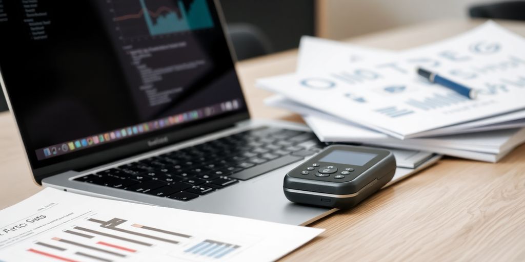
<svg viewBox="0 0 525 262">
<path fill-rule="evenodd" d="M 484 0 L 318 0 L 320 37 L 344 39 L 422 21 L 468 17 Z"/>
</svg>

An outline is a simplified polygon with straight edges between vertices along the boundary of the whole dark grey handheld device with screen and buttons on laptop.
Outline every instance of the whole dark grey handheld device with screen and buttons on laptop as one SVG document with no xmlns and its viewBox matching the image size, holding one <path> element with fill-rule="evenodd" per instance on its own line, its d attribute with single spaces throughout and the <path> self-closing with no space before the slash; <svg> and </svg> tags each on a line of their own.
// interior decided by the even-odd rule
<svg viewBox="0 0 525 262">
<path fill-rule="evenodd" d="M 333 145 L 288 172 L 283 190 L 292 202 L 351 208 L 392 180 L 395 170 L 388 150 Z"/>
</svg>

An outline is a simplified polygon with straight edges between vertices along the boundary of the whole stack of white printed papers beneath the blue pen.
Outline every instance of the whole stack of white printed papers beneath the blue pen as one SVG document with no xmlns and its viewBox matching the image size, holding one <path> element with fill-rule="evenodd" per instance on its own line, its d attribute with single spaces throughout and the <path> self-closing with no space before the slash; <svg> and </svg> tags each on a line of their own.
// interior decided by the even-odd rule
<svg viewBox="0 0 525 262">
<path fill-rule="evenodd" d="M 303 37 L 297 72 L 260 79 L 267 103 L 304 116 L 325 142 L 496 162 L 525 141 L 525 39 L 489 21 L 401 52 Z M 418 77 L 424 67 L 478 91 L 470 100 Z"/>
</svg>

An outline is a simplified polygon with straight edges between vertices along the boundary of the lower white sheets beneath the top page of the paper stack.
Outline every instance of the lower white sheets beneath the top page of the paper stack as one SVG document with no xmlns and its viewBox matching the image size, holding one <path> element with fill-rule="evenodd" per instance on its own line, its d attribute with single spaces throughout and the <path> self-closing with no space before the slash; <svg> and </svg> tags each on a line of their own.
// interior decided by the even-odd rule
<svg viewBox="0 0 525 262">
<path fill-rule="evenodd" d="M 316 133 L 319 140 L 324 142 L 363 143 L 375 146 L 424 150 L 443 155 L 496 162 L 525 141 L 525 128 L 400 140 L 324 114 L 313 108 L 287 100 L 284 97 L 270 97 L 270 99 L 266 100 L 266 103 L 303 115 L 304 121 Z"/>
</svg>

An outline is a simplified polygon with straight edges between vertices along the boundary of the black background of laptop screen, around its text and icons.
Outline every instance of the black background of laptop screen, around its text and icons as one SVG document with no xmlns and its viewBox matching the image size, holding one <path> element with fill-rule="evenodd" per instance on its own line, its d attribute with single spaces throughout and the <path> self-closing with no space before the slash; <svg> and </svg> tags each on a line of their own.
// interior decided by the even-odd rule
<svg viewBox="0 0 525 262">
<path fill-rule="evenodd" d="M 182 4 L 189 9 L 195 1 Z M 213 27 L 157 36 L 149 34 L 143 18 L 114 21 L 118 12 L 139 14 L 139 0 L 30 2 L 36 3 L 31 6 L 36 8 L 24 7 L 22 1 L 2 3 L 8 20 L 0 21 L 0 34 L 6 36 L 0 41 L 0 69 L 33 168 L 119 143 L 36 163 L 34 151 L 38 148 L 227 100 L 244 101 L 213 1 L 207 2 Z M 165 6 L 180 6 L 176 0 L 145 2 L 152 12 L 160 10 L 158 14 L 164 14 Z M 28 14 L 39 14 L 33 23 L 49 24 L 31 29 Z M 46 38 L 35 40 L 34 32 Z M 139 63 L 137 56 L 130 54 L 131 50 L 155 50 L 173 43 L 180 43 L 180 47 L 152 52 Z M 144 70 L 193 61 L 199 61 L 198 67 L 167 70 L 161 80 L 149 84 L 148 89 L 154 92 L 144 91 Z M 176 92 L 162 97 L 169 101 L 153 99 L 156 102 L 151 103 L 152 92 L 170 90 Z M 241 110 L 246 110 L 244 103 L 241 105 Z M 198 123 L 202 121 L 192 124 Z"/>
</svg>

